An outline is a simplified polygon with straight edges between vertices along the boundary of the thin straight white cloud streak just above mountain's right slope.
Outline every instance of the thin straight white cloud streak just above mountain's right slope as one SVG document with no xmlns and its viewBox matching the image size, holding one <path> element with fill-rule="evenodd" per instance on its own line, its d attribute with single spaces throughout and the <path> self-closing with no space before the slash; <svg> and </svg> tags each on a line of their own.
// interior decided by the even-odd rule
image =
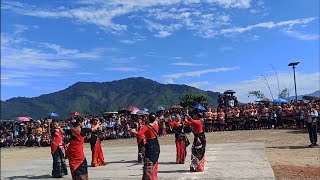
<svg viewBox="0 0 320 180">
<path fill-rule="evenodd" d="M 222 67 L 222 68 L 214 68 L 214 69 L 205 69 L 205 70 L 201 70 L 201 71 L 166 74 L 163 77 L 168 78 L 168 79 L 178 79 L 178 78 L 182 78 L 182 77 L 201 76 L 202 74 L 207 74 L 207 73 L 212 73 L 212 72 L 234 71 L 237 69 L 239 69 L 239 67 Z"/>
</svg>

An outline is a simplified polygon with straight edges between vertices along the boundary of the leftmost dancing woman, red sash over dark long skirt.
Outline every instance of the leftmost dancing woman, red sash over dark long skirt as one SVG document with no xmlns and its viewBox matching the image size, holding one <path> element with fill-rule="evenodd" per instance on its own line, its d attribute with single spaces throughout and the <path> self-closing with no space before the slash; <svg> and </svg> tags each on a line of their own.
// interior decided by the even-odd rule
<svg viewBox="0 0 320 180">
<path fill-rule="evenodd" d="M 68 175 L 67 165 L 65 162 L 65 147 L 63 142 L 64 131 L 59 126 L 58 122 L 52 123 L 51 129 L 51 154 L 53 159 L 52 177 L 62 178 Z"/>
</svg>

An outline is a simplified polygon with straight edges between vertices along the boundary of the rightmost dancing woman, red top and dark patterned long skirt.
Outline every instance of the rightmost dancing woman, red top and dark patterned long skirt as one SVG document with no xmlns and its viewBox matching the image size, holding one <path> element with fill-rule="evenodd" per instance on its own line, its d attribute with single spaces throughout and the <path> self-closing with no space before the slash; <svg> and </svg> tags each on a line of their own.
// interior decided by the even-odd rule
<svg viewBox="0 0 320 180">
<path fill-rule="evenodd" d="M 206 149 L 206 136 L 202 130 L 202 124 L 200 118 L 202 117 L 199 112 L 192 112 L 190 116 L 185 119 L 186 123 L 193 128 L 194 140 L 191 148 L 191 172 L 203 172 L 205 161 L 205 149 Z"/>
</svg>

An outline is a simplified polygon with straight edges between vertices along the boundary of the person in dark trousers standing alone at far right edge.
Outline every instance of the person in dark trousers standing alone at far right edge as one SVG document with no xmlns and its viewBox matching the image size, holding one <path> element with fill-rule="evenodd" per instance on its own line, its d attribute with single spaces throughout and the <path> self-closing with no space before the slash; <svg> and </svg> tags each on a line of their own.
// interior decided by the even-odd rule
<svg viewBox="0 0 320 180">
<path fill-rule="evenodd" d="M 309 145 L 309 147 L 313 147 L 313 146 L 319 146 L 317 144 L 317 125 L 318 125 L 318 111 L 315 108 L 309 107 L 308 110 L 308 122 L 307 122 L 307 128 L 308 128 L 308 133 L 309 133 L 309 138 L 310 138 L 310 142 L 311 144 Z"/>
</svg>

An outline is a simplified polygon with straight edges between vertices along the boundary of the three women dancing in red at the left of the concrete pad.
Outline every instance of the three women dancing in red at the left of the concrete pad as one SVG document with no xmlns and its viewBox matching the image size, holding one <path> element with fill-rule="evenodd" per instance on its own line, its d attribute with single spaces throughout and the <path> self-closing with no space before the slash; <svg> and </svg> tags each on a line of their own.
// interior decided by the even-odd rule
<svg viewBox="0 0 320 180">
<path fill-rule="evenodd" d="M 69 167 L 73 180 L 88 179 L 88 164 L 84 155 L 84 136 L 91 133 L 91 151 L 92 161 L 91 166 L 104 166 L 104 155 L 101 148 L 99 135 L 98 119 L 93 119 L 92 128 L 83 128 L 84 119 L 77 117 L 74 122 L 74 127 L 70 130 L 63 130 L 58 122 L 53 122 L 51 131 L 53 140 L 51 143 L 51 154 L 53 158 L 52 177 L 61 178 L 68 174 L 65 158 L 69 160 Z M 68 148 L 63 141 L 63 135 L 70 135 L 70 144 Z"/>
</svg>

